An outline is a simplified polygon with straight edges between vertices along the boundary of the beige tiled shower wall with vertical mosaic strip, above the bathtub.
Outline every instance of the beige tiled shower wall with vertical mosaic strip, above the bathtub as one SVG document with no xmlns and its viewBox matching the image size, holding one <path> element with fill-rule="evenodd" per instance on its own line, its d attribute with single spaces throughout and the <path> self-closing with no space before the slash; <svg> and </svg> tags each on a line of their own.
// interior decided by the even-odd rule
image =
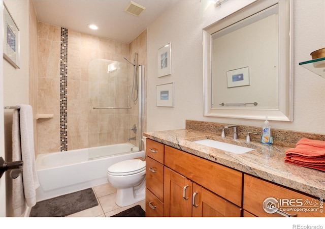
<svg viewBox="0 0 325 229">
<path fill-rule="evenodd" d="M 139 64 L 146 66 L 147 32 L 144 31 L 131 44 L 125 44 L 68 30 L 66 79 L 60 78 L 60 73 L 65 68 L 64 66 L 62 69 L 60 65 L 62 64 L 60 63 L 61 38 L 60 27 L 38 23 L 38 113 L 53 114 L 51 119 L 37 121 L 38 152 L 41 154 L 107 145 L 113 141 L 107 139 L 108 136 L 114 137 L 116 143 L 126 142 L 127 137 L 133 137 L 133 132 L 128 131 L 128 128 L 138 123 L 138 105 L 130 102 L 132 109 L 114 111 L 110 114 L 110 119 L 108 119 L 108 114 L 100 113 L 100 111 L 97 115 L 93 116 L 92 113 L 90 116 L 92 110 L 91 104 L 88 104 L 88 64 L 93 59 L 125 62 L 123 56 L 133 60 L 134 52 L 138 52 Z M 129 93 L 132 90 L 132 71 L 133 68 L 130 65 Z M 62 80 L 67 82 L 64 86 L 67 87 L 66 97 L 60 96 Z M 115 95 L 117 98 L 118 96 Z M 67 121 L 62 120 L 60 115 L 60 106 L 64 104 L 62 99 L 66 99 L 67 103 Z M 110 125 L 118 123 L 117 120 L 122 116 L 126 116 L 127 121 L 121 121 L 119 125 Z M 64 125 L 67 127 L 66 142 L 64 131 L 63 134 L 60 133 Z M 108 134 L 117 132 L 115 127 L 123 128 L 127 136 L 117 139 L 119 136 Z M 135 145 L 137 143 L 132 140 L 131 142 Z"/>
</svg>

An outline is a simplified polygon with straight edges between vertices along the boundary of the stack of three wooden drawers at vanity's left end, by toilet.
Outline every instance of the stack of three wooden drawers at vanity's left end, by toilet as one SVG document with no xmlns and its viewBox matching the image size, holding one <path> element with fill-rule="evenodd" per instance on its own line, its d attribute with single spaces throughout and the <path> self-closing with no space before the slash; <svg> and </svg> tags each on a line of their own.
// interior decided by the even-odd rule
<svg viewBox="0 0 325 229">
<path fill-rule="evenodd" d="M 146 139 L 146 217 L 163 216 L 164 148 L 164 144 Z"/>
</svg>

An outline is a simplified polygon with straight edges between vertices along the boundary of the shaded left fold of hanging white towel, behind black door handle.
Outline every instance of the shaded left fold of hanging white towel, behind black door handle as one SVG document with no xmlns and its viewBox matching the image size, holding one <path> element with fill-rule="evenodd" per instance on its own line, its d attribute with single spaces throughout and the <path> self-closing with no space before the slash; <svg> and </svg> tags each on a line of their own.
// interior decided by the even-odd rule
<svg viewBox="0 0 325 229">
<path fill-rule="evenodd" d="M 12 161 L 21 161 L 18 109 L 14 109 L 12 117 Z M 26 210 L 21 175 L 12 180 L 12 207 L 14 216 L 21 216 Z"/>
</svg>

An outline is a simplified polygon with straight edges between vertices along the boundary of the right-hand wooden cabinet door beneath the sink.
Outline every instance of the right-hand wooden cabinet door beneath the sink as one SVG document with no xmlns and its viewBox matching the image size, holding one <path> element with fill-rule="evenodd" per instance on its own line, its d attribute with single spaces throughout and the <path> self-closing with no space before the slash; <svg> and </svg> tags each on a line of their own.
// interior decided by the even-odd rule
<svg viewBox="0 0 325 229">
<path fill-rule="evenodd" d="M 242 209 L 193 183 L 193 217 L 240 217 Z"/>
</svg>

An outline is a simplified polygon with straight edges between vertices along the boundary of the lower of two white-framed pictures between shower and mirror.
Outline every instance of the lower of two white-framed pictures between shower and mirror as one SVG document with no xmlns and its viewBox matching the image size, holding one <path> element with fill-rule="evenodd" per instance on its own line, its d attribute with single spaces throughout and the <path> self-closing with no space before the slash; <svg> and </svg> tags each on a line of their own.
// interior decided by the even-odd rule
<svg viewBox="0 0 325 229">
<path fill-rule="evenodd" d="M 157 85 L 156 106 L 174 107 L 174 83 Z"/>
</svg>

